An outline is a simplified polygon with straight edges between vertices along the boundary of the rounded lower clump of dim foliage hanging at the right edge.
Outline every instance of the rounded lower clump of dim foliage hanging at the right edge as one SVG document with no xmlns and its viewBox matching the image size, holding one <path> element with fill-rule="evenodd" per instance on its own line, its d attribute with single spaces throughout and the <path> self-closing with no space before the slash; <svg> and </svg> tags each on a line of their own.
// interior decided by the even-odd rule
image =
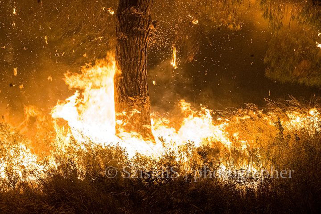
<svg viewBox="0 0 321 214">
<path fill-rule="evenodd" d="M 284 28 L 269 42 L 266 76 L 281 82 L 321 85 L 321 49 L 315 30 Z"/>
</svg>

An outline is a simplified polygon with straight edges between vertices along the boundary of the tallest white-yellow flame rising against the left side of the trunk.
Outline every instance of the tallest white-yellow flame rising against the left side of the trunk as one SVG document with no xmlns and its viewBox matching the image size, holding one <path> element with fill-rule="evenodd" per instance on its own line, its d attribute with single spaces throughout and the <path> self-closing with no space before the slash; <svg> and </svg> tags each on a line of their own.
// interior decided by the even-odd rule
<svg viewBox="0 0 321 214">
<path fill-rule="evenodd" d="M 76 91 L 53 108 L 52 117 L 66 120 L 77 140 L 84 140 L 82 135 L 97 142 L 115 140 L 115 70 L 109 54 L 94 66 L 82 67 L 81 73 L 65 74 L 66 84 Z"/>
</svg>

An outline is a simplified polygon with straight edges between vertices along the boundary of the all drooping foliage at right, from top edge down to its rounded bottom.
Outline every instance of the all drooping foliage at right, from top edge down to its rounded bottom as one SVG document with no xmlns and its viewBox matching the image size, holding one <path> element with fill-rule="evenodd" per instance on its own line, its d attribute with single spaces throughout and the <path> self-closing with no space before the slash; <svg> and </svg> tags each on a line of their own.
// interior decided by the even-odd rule
<svg viewBox="0 0 321 214">
<path fill-rule="evenodd" d="M 281 82 L 321 85 L 321 49 L 316 47 L 321 29 L 317 1 L 261 0 L 263 17 L 270 23 L 273 38 L 265 54 L 266 76 Z"/>
</svg>

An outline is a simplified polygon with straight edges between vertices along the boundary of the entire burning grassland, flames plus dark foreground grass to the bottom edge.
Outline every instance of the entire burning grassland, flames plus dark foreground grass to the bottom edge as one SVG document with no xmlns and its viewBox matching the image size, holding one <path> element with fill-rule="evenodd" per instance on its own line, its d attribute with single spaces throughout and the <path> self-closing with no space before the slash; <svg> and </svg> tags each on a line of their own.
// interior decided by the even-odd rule
<svg viewBox="0 0 321 214">
<path fill-rule="evenodd" d="M 25 107 L 19 127 L 0 125 L 3 213 L 319 211 L 319 100 L 224 112 L 181 100 L 171 119 L 153 113 L 152 142 L 116 134 L 126 121 L 115 121 L 115 72 L 108 55 L 66 73 L 75 93 L 51 115 Z M 112 178 L 110 167 L 118 172 Z M 260 174 L 271 168 L 293 174 Z"/>
</svg>

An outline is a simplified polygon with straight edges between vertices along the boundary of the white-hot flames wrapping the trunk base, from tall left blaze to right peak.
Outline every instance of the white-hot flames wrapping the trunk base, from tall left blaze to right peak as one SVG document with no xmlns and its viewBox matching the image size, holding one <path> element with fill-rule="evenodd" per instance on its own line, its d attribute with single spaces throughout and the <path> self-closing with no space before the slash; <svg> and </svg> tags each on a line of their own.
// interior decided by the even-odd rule
<svg viewBox="0 0 321 214">
<path fill-rule="evenodd" d="M 186 117 L 178 130 L 168 126 L 166 118 L 152 116 L 155 143 L 143 139 L 137 133 L 119 130 L 120 133 L 116 135 L 113 82 L 115 72 L 115 57 L 108 54 L 105 60 L 97 61 L 93 66 L 87 64 L 81 73 L 65 74 L 66 84 L 76 91 L 73 96 L 60 101 L 51 115 L 56 121 L 59 118 L 67 121 L 76 140 L 90 139 L 102 145 L 119 143 L 127 149 L 130 156 L 134 156 L 136 152 L 158 156 L 162 153 L 164 143 L 173 150 L 187 141 L 193 141 L 195 146 L 199 147 L 204 139 L 215 139 L 230 145 L 230 140 L 224 134 L 227 123 L 215 125 L 210 110 L 202 107 L 201 112 L 193 111 L 184 100 L 180 101 L 179 106 Z"/>
</svg>

